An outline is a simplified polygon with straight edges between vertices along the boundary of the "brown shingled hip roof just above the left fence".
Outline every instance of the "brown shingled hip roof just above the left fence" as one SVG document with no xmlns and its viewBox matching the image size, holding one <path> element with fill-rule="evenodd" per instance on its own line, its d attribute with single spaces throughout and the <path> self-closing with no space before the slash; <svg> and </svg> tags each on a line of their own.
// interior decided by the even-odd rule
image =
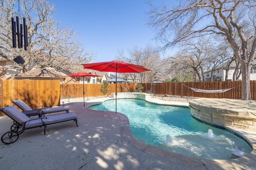
<svg viewBox="0 0 256 170">
<path fill-rule="evenodd" d="M 44 67 L 35 68 L 24 73 L 16 74 L 14 77 L 52 77 L 52 78 L 66 78 L 54 68 Z"/>
</svg>

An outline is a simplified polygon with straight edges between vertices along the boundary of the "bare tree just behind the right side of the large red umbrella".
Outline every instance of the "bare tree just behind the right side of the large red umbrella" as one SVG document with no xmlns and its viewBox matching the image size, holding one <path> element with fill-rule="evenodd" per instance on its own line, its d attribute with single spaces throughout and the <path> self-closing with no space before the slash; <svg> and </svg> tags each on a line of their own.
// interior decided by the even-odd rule
<svg viewBox="0 0 256 170">
<path fill-rule="evenodd" d="M 158 79 L 160 73 L 162 71 L 162 63 L 160 61 L 159 51 L 152 47 L 151 45 L 146 46 L 144 49 L 134 47 L 133 49 L 129 49 L 129 57 L 124 56 L 124 51 L 119 51 L 118 59 L 144 66 L 148 68 L 150 71 L 142 72 L 139 74 L 126 74 L 135 81 L 136 79 L 140 79 L 141 83 L 153 82 Z"/>
</svg>

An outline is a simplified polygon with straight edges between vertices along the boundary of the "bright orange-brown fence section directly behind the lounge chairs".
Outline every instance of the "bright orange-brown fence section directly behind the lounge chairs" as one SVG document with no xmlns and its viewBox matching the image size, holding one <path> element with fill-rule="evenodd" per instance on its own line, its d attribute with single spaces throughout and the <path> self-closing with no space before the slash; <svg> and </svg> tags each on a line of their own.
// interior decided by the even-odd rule
<svg viewBox="0 0 256 170">
<path fill-rule="evenodd" d="M 15 106 L 13 100 L 23 100 L 30 107 L 60 106 L 59 80 L 0 80 L 0 84 L 0 108 Z"/>
</svg>

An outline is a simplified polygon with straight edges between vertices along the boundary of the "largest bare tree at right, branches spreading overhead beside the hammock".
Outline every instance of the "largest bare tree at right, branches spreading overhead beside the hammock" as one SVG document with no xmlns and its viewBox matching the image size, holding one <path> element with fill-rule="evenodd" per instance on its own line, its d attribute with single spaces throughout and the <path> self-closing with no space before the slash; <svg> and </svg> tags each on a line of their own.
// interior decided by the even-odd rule
<svg viewBox="0 0 256 170">
<path fill-rule="evenodd" d="M 255 0 L 180 0 L 169 9 L 151 3 L 148 25 L 155 28 L 163 49 L 204 35 L 226 38 L 241 64 L 242 100 L 251 100 L 250 69 L 256 54 Z M 171 35 L 173 38 L 170 38 Z"/>
</svg>

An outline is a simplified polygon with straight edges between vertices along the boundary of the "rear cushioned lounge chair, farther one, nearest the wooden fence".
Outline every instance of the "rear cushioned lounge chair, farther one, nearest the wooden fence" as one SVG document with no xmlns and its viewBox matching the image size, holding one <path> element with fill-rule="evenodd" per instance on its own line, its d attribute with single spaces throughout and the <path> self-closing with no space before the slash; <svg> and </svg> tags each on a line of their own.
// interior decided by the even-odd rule
<svg viewBox="0 0 256 170">
<path fill-rule="evenodd" d="M 23 111 L 30 111 L 33 110 L 35 107 L 29 107 L 26 103 L 24 103 L 22 100 L 14 100 L 12 103 L 14 103 L 16 106 L 20 107 Z M 36 106 L 36 107 L 42 107 L 42 114 L 47 114 L 47 113 L 55 113 L 59 111 L 66 111 L 68 113 L 69 108 L 68 106 L 56 106 L 56 107 L 49 107 L 49 108 L 44 108 L 44 106 Z"/>
</svg>

